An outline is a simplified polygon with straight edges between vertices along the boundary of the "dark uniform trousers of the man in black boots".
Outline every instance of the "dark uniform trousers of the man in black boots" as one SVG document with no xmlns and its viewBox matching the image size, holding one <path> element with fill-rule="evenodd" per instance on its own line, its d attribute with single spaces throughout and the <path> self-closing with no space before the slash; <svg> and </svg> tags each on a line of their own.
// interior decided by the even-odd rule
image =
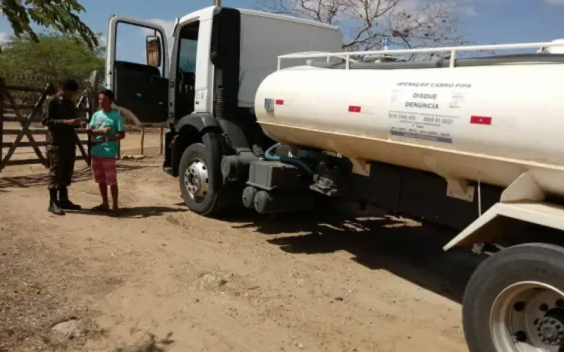
<svg viewBox="0 0 564 352">
<path fill-rule="evenodd" d="M 75 146 L 48 146 L 49 189 L 68 187 L 73 180 L 75 170 Z"/>
</svg>

